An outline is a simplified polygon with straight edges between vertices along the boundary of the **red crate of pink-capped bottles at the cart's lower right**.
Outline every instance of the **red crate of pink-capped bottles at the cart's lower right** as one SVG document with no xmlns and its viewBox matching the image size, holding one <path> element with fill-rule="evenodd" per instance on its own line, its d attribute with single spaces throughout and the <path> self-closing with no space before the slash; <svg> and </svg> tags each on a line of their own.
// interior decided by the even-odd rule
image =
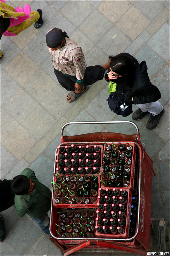
<svg viewBox="0 0 170 256">
<path fill-rule="evenodd" d="M 110 188 L 109 188 L 110 189 Z M 120 188 L 116 188 L 117 190 L 120 190 Z M 106 190 L 106 188 L 103 188 L 103 190 Z M 127 204 L 124 204 L 125 206 L 127 206 L 127 211 L 125 212 L 126 213 L 126 226 L 123 227 L 125 229 L 125 232 L 123 234 L 119 234 L 117 233 L 116 235 L 113 235 L 113 234 L 104 234 L 104 231 L 103 233 L 98 233 L 96 231 L 96 236 L 98 237 L 113 237 L 113 238 L 128 238 L 129 237 L 129 224 L 130 224 L 130 211 L 131 211 L 131 198 L 132 198 L 132 192 L 131 190 L 129 189 L 126 189 L 126 188 L 123 188 L 123 190 L 126 190 L 128 192 L 128 198 L 127 198 Z M 102 197 L 102 196 L 101 196 Z M 100 212 L 100 209 L 98 207 L 98 211 Z M 119 212 L 119 211 L 117 211 Z M 97 214 L 97 218 L 98 218 L 98 214 Z M 99 218 L 100 219 L 100 218 Z M 110 220 L 110 219 L 109 219 Z M 99 227 L 99 224 L 97 223 L 96 221 L 96 226 Z M 119 225 L 118 225 L 119 226 Z"/>
</svg>

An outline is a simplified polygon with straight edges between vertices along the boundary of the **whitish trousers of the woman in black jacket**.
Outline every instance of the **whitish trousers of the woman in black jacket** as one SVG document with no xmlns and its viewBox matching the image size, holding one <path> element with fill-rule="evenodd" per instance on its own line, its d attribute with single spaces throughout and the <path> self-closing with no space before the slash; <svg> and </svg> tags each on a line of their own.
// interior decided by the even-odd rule
<svg viewBox="0 0 170 256">
<path fill-rule="evenodd" d="M 137 107 L 139 107 L 142 112 L 148 111 L 151 114 L 159 115 L 160 112 L 163 110 L 163 106 L 160 104 L 160 102 L 157 100 L 156 102 L 151 103 L 145 103 L 145 104 L 136 104 Z"/>
</svg>

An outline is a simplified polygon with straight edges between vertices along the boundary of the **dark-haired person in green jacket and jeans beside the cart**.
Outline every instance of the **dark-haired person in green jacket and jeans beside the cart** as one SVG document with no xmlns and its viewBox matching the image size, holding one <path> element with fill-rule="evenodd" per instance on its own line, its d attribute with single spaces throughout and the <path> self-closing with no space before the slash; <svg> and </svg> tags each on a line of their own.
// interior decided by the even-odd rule
<svg viewBox="0 0 170 256">
<path fill-rule="evenodd" d="M 21 175 L 11 181 L 15 194 L 15 207 L 19 217 L 26 213 L 35 221 L 42 231 L 49 232 L 48 211 L 51 206 L 51 191 L 35 176 L 34 171 L 26 168 Z"/>
</svg>

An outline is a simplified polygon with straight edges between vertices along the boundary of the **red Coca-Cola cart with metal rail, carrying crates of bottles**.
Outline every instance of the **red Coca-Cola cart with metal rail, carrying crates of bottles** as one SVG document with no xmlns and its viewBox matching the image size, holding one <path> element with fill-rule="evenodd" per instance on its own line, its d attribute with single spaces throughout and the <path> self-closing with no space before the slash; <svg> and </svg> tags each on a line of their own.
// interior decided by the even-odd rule
<svg viewBox="0 0 170 256">
<path fill-rule="evenodd" d="M 136 128 L 136 134 L 125 135 L 121 133 L 111 133 L 111 132 L 95 132 L 74 136 L 63 136 L 64 128 L 67 125 L 84 125 L 84 124 L 132 124 Z M 122 250 L 126 252 L 147 255 L 150 252 L 150 228 L 152 225 L 151 220 L 151 190 L 152 190 L 152 176 L 156 175 L 152 168 L 152 159 L 144 151 L 145 144 L 140 141 L 140 135 L 138 127 L 135 123 L 129 121 L 105 121 L 105 122 L 70 122 L 63 125 L 61 130 L 61 144 L 59 146 L 71 145 L 98 145 L 101 146 L 104 142 L 110 143 L 123 142 L 130 143 L 134 145 L 134 148 L 138 151 L 138 175 L 137 175 L 137 189 L 136 194 L 138 195 L 138 209 L 137 209 L 137 225 L 135 234 L 127 238 L 122 237 L 95 237 L 95 238 L 62 238 L 57 237 L 54 232 L 56 229 L 55 222 L 57 222 L 57 208 L 53 205 L 53 199 L 51 203 L 51 213 L 50 213 L 50 233 L 52 237 L 50 240 L 63 252 L 64 255 L 69 255 L 76 252 L 84 247 L 90 249 L 106 249 L 114 248 L 117 250 Z M 53 182 L 55 181 L 56 172 L 56 153 L 55 151 L 55 161 L 54 161 L 54 172 L 53 172 Z M 53 195 L 52 188 L 52 195 Z M 82 205 L 83 206 L 83 205 Z M 85 205 L 84 205 L 85 207 Z M 155 220 L 155 219 L 154 219 Z M 166 237 L 166 239 L 165 239 Z M 161 252 L 167 252 L 169 244 L 169 223 L 160 220 L 158 225 L 157 239 L 159 241 L 158 248 Z"/>
</svg>

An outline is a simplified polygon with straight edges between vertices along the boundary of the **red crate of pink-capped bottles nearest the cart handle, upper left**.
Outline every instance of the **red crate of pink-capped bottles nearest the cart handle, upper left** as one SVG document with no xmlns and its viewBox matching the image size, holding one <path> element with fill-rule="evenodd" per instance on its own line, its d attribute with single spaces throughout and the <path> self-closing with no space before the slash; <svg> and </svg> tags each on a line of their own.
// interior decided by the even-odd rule
<svg viewBox="0 0 170 256">
<path fill-rule="evenodd" d="M 76 145 L 76 144 L 74 144 L 74 145 L 75 145 L 76 147 L 78 147 L 78 146 L 86 147 L 86 146 L 89 145 L 89 144 L 86 144 L 86 145 L 79 145 L 79 144 Z M 60 146 L 60 147 L 61 147 L 61 148 L 62 148 L 62 147 L 65 148 L 65 146 L 70 147 L 71 145 L 64 145 L 64 146 Z M 101 171 L 101 170 L 102 170 L 101 164 L 102 164 L 103 146 L 102 146 L 102 145 L 97 145 L 97 146 L 100 147 L 100 149 L 101 149 L 100 153 L 97 153 L 97 154 L 99 154 L 99 155 L 101 156 L 101 159 L 100 159 L 100 166 L 99 166 L 99 167 L 96 167 L 96 168 L 99 168 L 100 172 L 97 173 L 97 174 L 95 174 L 95 173 L 93 172 L 93 167 L 95 167 L 95 166 L 94 166 L 94 159 L 93 159 L 93 160 L 92 160 L 93 165 L 92 165 L 91 167 L 88 167 L 88 168 L 90 168 L 90 169 L 92 170 L 92 173 L 91 173 L 91 174 L 88 174 L 88 175 L 92 175 L 92 174 L 94 174 L 94 175 L 101 175 L 101 172 L 102 172 L 102 171 Z M 90 147 L 93 148 L 93 152 L 92 152 L 92 153 L 89 153 L 89 154 L 93 156 L 93 153 L 95 153 L 95 151 L 94 151 L 94 145 L 91 145 L 91 144 L 90 144 Z M 61 155 L 64 155 L 64 153 L 62 154 L 62 153 L 59 152 L 59 149 L 57 149 L 57 153 L 58 153 L 58 154 L 61 154 Z M 78 153 L 80 153 L 80 150 L 78 151 Z M 78 154 L 78 153 L 77 153 L 77 154 Z M 86 152 L 86 153 L 87 153 L 87 152 Z M 84 153 L 84 154 L 86 154 L 86 153 Z M 56 168 L 61 168 L 61 169 L 64 169 L 64 168 L 69 168 L 69 169 L 75 168 L 75 169 L 78 169 L 79 167 L 80 167 L 80 168 L 85 168 L 85 167 L 87 167 L 87 166 L 81 167 L 80 165 L 79 165 L 78 167 L 74 167 L 73 165 L 70 166 L 70 167 L 67 167 L 67 166 L 59 167 L 58 164 L 57 164 L 57 162 L 56 162 L 56 160 L 59 160 L 57 156 L 55 156 L 55 170 L 56 170 Z M 85 160 L 84 160 L 84 161 L 85 161 Z M 64 162 L 64 160 L 63 160 L 63 162 Z M 56 171 L 56 173 L 58 173 L 58 172 Z M 65 172 L 63 172 L 63 173 L 65 174 Z"/>
</svg>

